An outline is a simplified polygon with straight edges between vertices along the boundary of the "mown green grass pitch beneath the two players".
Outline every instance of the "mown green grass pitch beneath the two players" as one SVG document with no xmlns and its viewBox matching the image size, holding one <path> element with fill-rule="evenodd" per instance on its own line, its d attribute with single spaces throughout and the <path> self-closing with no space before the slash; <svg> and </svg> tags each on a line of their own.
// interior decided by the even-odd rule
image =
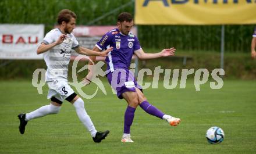
<svg viewBox="0 0 256 154">
<path fill-rule="evenodd" d="M 97 130 L 110 130 L 109 136 L 95 144 L 80 123 L 69 102 L 59 114 L 29 121 L 26 132 L 18 130 L 20 112 L 31 112 L 47 105 L 47 86 L 43 95 L 31 81 L 0 81 L 0 153 L 256 153 L 256 82 L 224 81 L 222 89 L 211 89 L 209 82 L 195 91 L 193 80 L 185 89 L 145 89 L 148 101 L 165 113 L 180 117 L 178 127 L 170 127 L 137 108 L 131 135 L 133 144 L 120 142 L 126 102 L 101 91 L 93 99 L 84 99 L 87 113 Z M 91 84 L 83 88 L 93 93 Z M 209 127 L 225 131 L 221 144 L 211 145 L 205 139 Z"/>
</svg>

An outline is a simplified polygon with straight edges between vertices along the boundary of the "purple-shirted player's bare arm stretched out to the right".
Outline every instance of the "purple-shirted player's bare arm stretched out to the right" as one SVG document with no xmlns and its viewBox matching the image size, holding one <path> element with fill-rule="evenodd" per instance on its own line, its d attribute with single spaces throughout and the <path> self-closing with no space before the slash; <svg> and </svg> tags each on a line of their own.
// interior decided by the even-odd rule
<svg viewBox="0 0 256 154">
<path fill-rule="evenodd" d="M 134 51 L 135 55 L 138 56 L 139 59 L 146 60 L 146 59 L 155 59 L 160 57 L 166 56 L 173 56 L 175 54 L 175 48 L 163 49 L 161 52 L 158 53 L 145 53 L 143 49 L 138 49 Z"/>
</svg>

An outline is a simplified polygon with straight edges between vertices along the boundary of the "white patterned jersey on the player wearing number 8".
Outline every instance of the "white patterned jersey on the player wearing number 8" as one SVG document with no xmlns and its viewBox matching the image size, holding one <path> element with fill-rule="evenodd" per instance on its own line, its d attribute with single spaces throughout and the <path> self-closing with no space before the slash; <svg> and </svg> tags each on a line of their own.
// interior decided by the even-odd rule
<svg viewBox="0 0 256 154">
<path fill-rule="evenodd" d="M 59 28 L 55 28 L 49 31 L 42 43 L 51 44 L 58 40 L 62 35 Z M 47 71 L 45 73 L 46 81 L 53 80 L 66 80 L 67 81 L 67 70 L 70 61 L 71 49 L 79 47 L 79 43 L 73 34 L 67 34 L 66 39 L 62 44 L 54 46 L 49 51 L 44 53 L 44 61 L 47 65 Z"/>
</svg>

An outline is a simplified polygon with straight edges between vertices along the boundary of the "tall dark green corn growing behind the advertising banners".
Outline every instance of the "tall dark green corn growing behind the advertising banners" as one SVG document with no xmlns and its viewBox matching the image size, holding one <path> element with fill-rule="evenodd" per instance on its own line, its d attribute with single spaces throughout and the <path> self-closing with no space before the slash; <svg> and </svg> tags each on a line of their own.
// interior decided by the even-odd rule
<svg viewBox="0 0 256 154">
<path fill-rule="evenodd" d="M 123 6 L 126 3 L 130 5 Z M 93 25 L 115 25 L 120 12 L 134 14 L 134 3 L 129 0 L 1 0 L 0 8 L 0 23 L 45 24 L 45 33 L 54 27 L 61 9 L 73 10 L 77 14 L 77 25 L 88 25 L 106 13 L 109 15 Z M 250 52 L 253 31 L 254 25 L 226 25 L 225 51 Z M 175 46 L 183 51 L 219 52 L 221 25 L 138 26 L 138 38 L 143 48 Z"/>
</svg>

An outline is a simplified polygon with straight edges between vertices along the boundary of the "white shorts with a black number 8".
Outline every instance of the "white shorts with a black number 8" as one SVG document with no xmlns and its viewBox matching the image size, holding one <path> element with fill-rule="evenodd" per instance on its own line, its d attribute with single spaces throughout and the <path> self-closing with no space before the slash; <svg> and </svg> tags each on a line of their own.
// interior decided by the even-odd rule
<svg viewBox="0 0 256 154">
<path fill-rule="evenodd" d="M 49 91 L 47 99 L 51 99 L 53 96 L 59 101 L 63 102 L 68 96 L 74 93 L 73 89 L 67 84 L 65 80 L 53 80 L 47 81 Z"/>
</svg>

